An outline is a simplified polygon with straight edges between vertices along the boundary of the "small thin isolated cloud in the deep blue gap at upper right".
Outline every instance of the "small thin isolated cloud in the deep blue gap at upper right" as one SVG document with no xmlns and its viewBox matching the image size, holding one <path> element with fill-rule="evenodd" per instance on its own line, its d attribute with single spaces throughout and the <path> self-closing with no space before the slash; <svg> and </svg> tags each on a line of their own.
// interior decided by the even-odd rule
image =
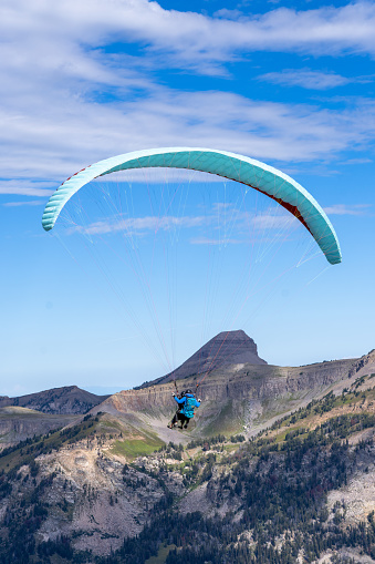
<svg viewBox="0 0 375 564">
<path fill-rule="evenodd" d="M 301 86 L 310 90 L 329 90 L 351 82 L 350 79 L 333 72 L 317 72 L 310 69 L 285 69 L 282 72 L 268 72 L 258 76 L 258 79 L 282 86 Z"/>
</svg>

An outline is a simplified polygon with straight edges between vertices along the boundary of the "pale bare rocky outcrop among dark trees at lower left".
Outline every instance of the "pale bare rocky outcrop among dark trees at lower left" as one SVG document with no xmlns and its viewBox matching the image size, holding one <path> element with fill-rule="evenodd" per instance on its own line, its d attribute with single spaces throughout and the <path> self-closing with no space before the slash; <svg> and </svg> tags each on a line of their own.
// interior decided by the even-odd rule
<svg viewBox="0 0 375 564">
<path fill-rule="evenodd" d="M 75 548 L 94 554 L 110 554 L 121 547 L 124 536 L 138 534 L 149 510 L 164 496 L 157 480 L 132 466 L 124 470 L 124 461 L 84 445 L 45 455 L 40 465 L 44 478 L 56 472 L 43 501 L 54 506 L 56 499 L 62 500 L 71 512 L 66 519 L 66 511 L 55 507 L 40 535 L 55 540 L 61 534 L 76 534 Z"/>
</svg>

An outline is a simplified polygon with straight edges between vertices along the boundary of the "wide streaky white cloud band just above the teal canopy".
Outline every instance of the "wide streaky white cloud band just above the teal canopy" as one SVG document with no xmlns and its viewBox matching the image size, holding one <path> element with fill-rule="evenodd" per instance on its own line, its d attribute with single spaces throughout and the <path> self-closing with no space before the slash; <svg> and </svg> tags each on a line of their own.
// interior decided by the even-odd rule
<svg viewBox="0 0 375 564">
<path fill-rule="evenodd" d="M 23 113 L 0 133 L 3 177 L 55 178 L 58 186 L 97 160 L 156 146 L 207 146 L 264 161 L 311 161 L 355 148 L 375 133 L 373 103 L 335 112 L 160 88 L 152 96 L 100 105 L 67 101 L 64 91 L 53 88 L 37 92 L 37 103 L 28 98 L 0 109 L 0 121 Z M 12 193 L 25 194 L 15 186 Z M 30 195 L 37 195 L 32 186 Z"/>
</svg>

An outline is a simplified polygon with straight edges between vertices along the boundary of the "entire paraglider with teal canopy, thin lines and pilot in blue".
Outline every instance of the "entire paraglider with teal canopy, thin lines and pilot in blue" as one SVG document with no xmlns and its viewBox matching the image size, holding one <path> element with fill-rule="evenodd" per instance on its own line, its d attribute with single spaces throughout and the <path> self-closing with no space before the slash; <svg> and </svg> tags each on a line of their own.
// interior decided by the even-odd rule
<svg viewBox="0 0 375 564">
<path fill-rule="evenodd" d="M 145 174 L 145 170 L 152 170 L 150 176 L 155 174 L 157 178 L 157 168 L 165 168 L 165 171 L 163 171 L 163 176 L 165 177 L 162 189 L 159 189 L 156 183 L 155 205 L 153 188 L 149 187 L 149 184 L 153 185 L 153 178 L 150 183 L 148 183 L 148 181 L 145 182 L 144 176 L 142 176 L 142 184 L 135 182 L 135 187 L 133 189 L 132 175 L 134 175 L 134 177 L 137 176 L 136 170 L 139 170 L 139 173 L 143 175 Z M 168 168 L 174 170 L 175 173 L 174 171 L 166 171 Z M 202 184 L 204 189 L 200 189 L 200 181 L 192 184 L 188 182 L 186 183 L 186 193 L 184 193 L 185 188 L 181 188 L 180 182 L 178 182 L 175 189 L 173 182 L 168 184 L 168 174 L 170 177 L 173 174 L 181 175 L 178 170 L 191 171 L 186 177 L 192 176 L 196 171 L 199 172 L 198 176 L 200 177 L 204 176 L 200 173 L 208 173 L 221 177 L 223 197 L 218 196 L 219 189 L 217 185 L 220 184 L 219 182 L 209 182 L 208 189 L 207 184 Z M 113 173 L 122 172 L 131 172 L 131 174 L 124 175 L 124 177 L 117 181 L 116 185 L 116 182 L 113 182 L 116 174 Z M 112 174 L 113 176 L 111 176 L 110 182 L 107 182 L 108 185 L 105 186 L 105 178 Z M 127 176 L 131 177 L 131 181 Z M 92 181 L 97 178 L 102 178 L 102 182 L 92 183 Z M 216 178 L 216 181 L 218 181 L 218 178 Z M 227 184 L 229 186 L 228 192 Z M 85 198 L 85 195 L 90 194 L 90 186 L 93 189 L 93 202 L 95 206 L 97 205 L 101 213 L 96 222 L 93 221 L 90 198 Z M 115 186 L 116 189 L 114 189 Z M 212 188 L 212 186 L 216 186 L 216 188 Z M 77 194 L 77 197 L 73 198 L 71 206 L 66 206 L 64 211 L 67 202 L 80 192 L 81 188 L 85 188 L 81 194 L 82 201 Z M 143 194 L 143 189 L 147 191 L 147 193 L 145 192 Z M 230 202 L 230 196 L 227 198 L 229 192 L 235 196 L 233 203 Z M 199 208 L 197 206 L 197 202 L 194 202 L 196 207 L 186 208 L 186 202 L 189 202 L 187 196 L 192 194 L 194 199 L 197 193 L 200 193 L 204 198 L 206 198 L 208 194 L 207 199 L 210 205 L 206 207 L 206 202 L 204 199 L 204 205 L 199 204 L 201 205 Z M 181 197 L 178 196 L 175 198 L 176 194 L 181 194 Z M 118 197 L 117 201 L 116 195 Z M 142 206 L 144 206 L 138 216 L 135 213 L 136 207 L 134 207 L 133 195 L 135 199 L 138 198 L 138 203 L 142 203 Z M 250 206 L 250 209 L 254 209 L 256 215 L 250 219 L 250 214 L 246 207 L 247 203 L 244 201 L 247 199 L 247 202 L 249 202 L 252 196 L 257 202 L 254 206 Z M 126 206 L 123 206 L 122 197 L 124 197 Z M 159 201 L 157 201 L 157 197 L 159 197 Z M 271 204 L 273 208 L 280 213 L 280 216 L 278 217 L 278 213 L 273 214 L 268 211 L 263 215 L 261 213 L 259 214 L 258 197 L 260 201 L 267 203 L 267 205 Z M 269 202 L 269 199 L 271 202 Z M 131 206 L 128 205 L 129 202 L 132 204 Z M 103 213 L 105 204 L 108 205 L 107 214 L 105 212 Z M 150 206 L 150 212 L 147 213 L 145 211 L 148 204 Z M 69 209 L 70 207 L 73 208 L 73 213 Z M 192 213 L 190 209 L 192 209 Z M 202 312 L 201 339 L 204 339 L 204 331 L 207 330 L 206 327 L 208 327 L 207 319 L 211 320 L 213 318 L 212 312 L 218 311 L 218 309 L 215 311 L 212 304 L 213 300 L 219 302 L 218 288 L 220 287 L 222 278 L 216 268 L 218 270 L 220 268 L 225 269 L 226 276 L 228 271 L 233 273 L 232 283 L 227 283 L 228 293 L 225 294 L 223 299 L 221 299 L 221 305 L 223 305 L 223 307 L 221 307 L 223 310 L 223 320 L 218 329 L 222 332 L 223 329 L 231 326 L 230 321 L 228 321 L 230 320 L 230 316 L 232 316 L 232 322 L 237 325 L 240 312 L 242 309 L 247 309 L 244 306 L 250 304 L 250 300 L 252 300 L 252 307 L 254 307 L 256 310 L 260 308 L 269 298 L 273 288 L 279 287 L 279 280 L 285 273 L 309 260 L 309 247 L 314 247 L 316 244 L 319 248 L 315 249 L 313 256 L 320 256 L 321 250 L 331 265 L 338 264 L 342 260 L 338 239 L 330 219 L 320 204 L 305 188 L 293 178 L 272 166 L 248 156 L 225 151 L 167 147 L 136 151 L 100 161 L 67 178 L 54 192 L 45 206 L 42 217 L 42 225 L 46 232 L 53 229 L 63 211 L 64 213 L 62 214 L 60 223 L 63 225 L 65 222 L 69 228 L 67 234 L 74 233 L 83 237 L 84 246 L 88 250 L 91 258 L 93 258 L 95 265 L 104 275 L 104 278 L 116 297 L 122 300 L 126 312 L 134 321 L 149 350 L 153 352 L 153 341 L 148 336 L 147 329 L 148 325 L 152 330 L 154 328 L 155 335 L 159 341 L 158 346 L 160 346 L 165 355 L 168 372 L 173 375 L 175 384 L 175 336 L 178 334 L 178 329 L 176 325 L 177 307 L 175 307 L 174 299 L 176 302 L 177 298 L 179 298 L 185 300 L 186 304 L 189 304 L 189 307 L 184 310 L 184 324 L 187 324 L 187 318 L 191 316 L 189 321 L 190 324 L 192 322 L 195 327 L 197 320 L 196 311 Z M 228 222 L 226 221 L 226 211 L 228 211 L 228 215 L 230 216 Z M 284 214 L 284 211 L 288 213 Z M 281 222 L 278 223 L 278 218 L 281 219 Z M 288 265 L 285 265 L 285 258 L 289 258 L 289 256 L 284 257 L 284 255 L 280 255 L 279 257 L 278 255 L 279 245 L 289 239 L 288 233 L 285 235 L 285 230 L 284 233 L 282 232 L 283 227 L 280 229 L 278 227 L 278 230 L 273 233 L 271 233 L 271 230 L 278 225 L 287 226 L 287 228 L 291 224 L 295 226 L 298 222 L 293 222 L 293 218 L 298 219 L 304 227 L 304 229 L 300 229 L 301 233 L 299 235 L 303 236 L 304 233 L 305 239 L 309 243 L 306 245 L 308 250 L 304 250 L 302 246 L 298 247 L 299 242 L 296 240 L 298 237 L 295 237 L 295 248 L 299 252 L 299 258 L 295 263 L 291 254 L 290 262 L 292 266 L 288 267 Z M 88 224 L 86 224 L 87 221 Z M 241 226 L 241 221 L 242 224 L 246 223 L 246 229 L 243 229 L 243 225 Z M 271 228 L 269 227 L 269 221 L 271 221 Z M 179 239 L 177 233 L 178 228 L 180 226 L 196 225 L 204 226 L 200 232 L 197 229 L 199 237 L 186 237 L 185 239 L 181 237 L 181 247 L 184 250 L 177 253 L 176 242 Z M 261 236 L 257 238 L 258 234 L 256 232 L 258 228 Z M 147 229 L 148 233 L 153 233 L 153 235 L 150 235 L 150 238 L 153 237 L 152 245 L 149 245 L 149 239 L 147 240 L 145 236 Z M 238 236 L 233 237 L 232 234 L 233 230 L 236 233 L 236 229 L 238 229 Z M 121 235 L 121 243 L 125 245 L 118 246 L 118 248 L 115 244 L 111 245 L 111 240 L 108 240 L 111 237 L 103 238 L 101 236 L 106 233 Z M 170 238 L 167 236 L 168 233 L 170 233 Z M 56 235 L 59 238 L 59 229 Z M 94 236 L 92 237 L 92 235 Z M 117 239 L 115 239 L 115 242 L 116 240 Z M 142 242 L 142 245 L 138 245 L 139 242 Z M 157 242 L 160 242 L 159 248 L 157 247 Z M 202 253 L 198 253 L 198 247 L 196 246 L 194 253 L 191 253 L 194 263 L 189 263 L 189 252 L 186 252 L 186 242 L 188 242 L 188 245 L 199 245 L 199 252 L 200 248 L 207 246 L 207 259 L 202 258 Z M 62 243 L 65 246 L 65 243 Z M 87 245 L 85 245 L 85 243 L 87 243 Z M 221 250 L 230 243 L 235 244 L 230 253 L 228 253 L 235 266 L 232 269 L 222 266 L 223 253 L 221 253 Z M 140 257 L 139 246 L 140 249 L 145 249 L 145 260 Z M 244 253 L 242 253 L 242 248 L 244 248 Z M 251 252 L 248 252 L 250 248 Z M 102 255 L 100 253 L 101 250 L 103 252 Z M 159 256 L 157 255 L 157 250 L 160 253 Z M 174 255 L 173 258 L 181 258 L 183 268 L 179 265 L 177 269 L 177 260 L 173 263 L 170 259 L 169 262 L 169 253 Z M 111 268 L 107 268 L 107 264 L 111 266 L 111 258 L 107 263 L 108 255 L 111 258 L 115 257 L 114 283 L 111 279 Z M 306 255 L 308 259 L 305 259 Z M 159 260 L 155 258 L 157 256 L 160 258 Z M 102 260 L 102 257 L 104 260 Z M 267 259 L 264 259 L 264 257 Z M 238 260 L 241 263 L 240 273 L 237 273 L 236 269 Z M 275 260 L 278 267 L 280 264 L 281 273 L 278 276 L 275 276 L 272 268 L 270 268 L 272 260 Z M 132 275 L 135 276 L 136 284 L 133 284 L 128 291 L 122 291 L 121 283 L 123 279 L 126 280 L 127 276 L 118 276 L 118 263 L 125 264 L 126 268 L 128 268 L 126 273 L 132 271 Z M 259 270 L 256 270 L 257 264 Z M 162 273 L 163 267 L 164 273 Z M 271 275 L 269 275 L 270 270 Z M 202 277 L 204 271 L 205 276 Z M 187 274 L 191 275 L 191 277 L 189 278 Z M 177 275 L 179 278 L 177 278 Z M 202 278 L 206 280 L 206 289 L 199 295 L 200 289 L 204 287 Z M 177 279 L 181 283 L 180 286 L 177 286 Z M 117 280 L 119 280 L 118 286 Z M 191 280 L 195 285 L 191 284 Z M 157 299 L 154 299 L 153 288 L 156 288 L 158 291 Z M 164 291 L 164 294 L 162 294 L 162 291 Z M 152 324 L 148 324 L 147 320 L 146 330 L 142 322 L 142 314 L 139 314 L 139 301 L 136 299 L 137 293 L 144 300 L 145 308 L 152 320 Z M 166 298 L 163 302 L 164 295 Z M 194 300 L 186 299 L 187 296 L 188 298 L 194 296 Z M 159 311 L 165 314 L 164 319 L 158 315 L 156 305 Z M 246 312 L 246 315 L 248 315 L 248 312 Z M 166 320 L 169 322 L 168 337 L 170 338 L 171 356 L 168 353 L 168 347 L 166 345 L 167 339 L 165 338 L 167 334 L 164 329 Z M 218 324 L 220 319 L 213 319 L 213 321 Z M 152 327 L 152 325 L 154 327 Z M 222 347 L 220 356 L 225 357 L 226 340 L 227 337 L 222 340 L 216 355 L 212 355 L 212 361 L 205 370 L 201 370 L 202 367 L 206 366 L 205 359 L 200 359 L 201 366 L 198 368 L 197 372 L 194 372 L 201 373 L 197 388 L 204 382 L 213 367 L 217 368 L 216 357 L 220 353 Z M 158 350 L 156 350 L 156 356 L 158 356 Z M 183 397 L 175 397 L 175 400 L 177 403 L 181 404 L 181 409 L 169 423 L 169 427 L 173 428 L 177 422 L 187 427 L 187 423 L 192 419 L 194 407 L 199 407 L 199 400 L 196 400 L 195 394 L 191 394 L 190 399 L 187 392 L 183 394 Z"/>
</svg>

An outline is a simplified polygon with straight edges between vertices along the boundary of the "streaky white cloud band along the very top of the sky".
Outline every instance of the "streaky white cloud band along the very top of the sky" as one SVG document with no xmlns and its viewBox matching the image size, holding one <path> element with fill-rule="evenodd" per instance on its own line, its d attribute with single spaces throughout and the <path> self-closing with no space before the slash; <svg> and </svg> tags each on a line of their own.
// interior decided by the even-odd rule
<svg viewBox="0 0 375 564">
<path fill-rule="evenodd" d="M 178 66 L 204 72 L 237 53 L 258 50 L 324 55 L 375 52 L 375 6 L 365 1 L 301 11 L 278 8 L 248 17 L 221 10 L 208 17 L 165 10 L 147 0 L 112 0 L 110 4 L 104 0 L 3 0 L 0 21 L 3 48 L 20 65 L 28 57 L 22 45 L 32 42 L 39 68 L 125 85 L 126 68 L 118 73 L 115 60 L 112 69 L 102 64 L 101 49 L 111 43 L 139 42 L 149 52 L 167 55 L 168 64 L 175 58 Z M 13 43 L 15 37 L 21 44 Z M 94 58 L 87 57 L 90 50 Z"/>
</svg>

